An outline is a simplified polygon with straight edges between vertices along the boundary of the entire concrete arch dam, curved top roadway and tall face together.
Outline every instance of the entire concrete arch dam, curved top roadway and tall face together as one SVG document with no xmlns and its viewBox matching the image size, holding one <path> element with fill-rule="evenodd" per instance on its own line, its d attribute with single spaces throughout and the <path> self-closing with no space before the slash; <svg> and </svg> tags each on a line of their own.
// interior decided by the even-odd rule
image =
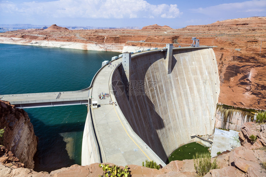
<svg viewBox="0 0 266 177">
<path fill-rule="evenodd" d="M 121 58 L 112 62 L 117 65 L 115 69 L 105 66 L 97 75 L 92 101 L 97 101 L 100 107 L 91 108 L 92 119 L 86 120 L 82 150 L 86 155 L 82 156 L 82 165 L 101 160 L 121 166 L 141 165 L 149 159 L 164 166 L 176 148 L 195 141 L 191 136 L 213 133 L 219 77 L 212 48 L 173 49 L 170 74 L 165 57 L 162 50 L 132 54 L 130 81 L 157 84 L 156 89 L 138 90 L 144 94 L 128 94 L 132 90 L 124 82 Z M 113 81 L 124 83 L 124 91 Z M 99 99 L 102 92 L 110 92 L 118 106 L 109 105 L 110 98 Z M 91 124 L 95 137 L 90 134 Z"/>
</svg>

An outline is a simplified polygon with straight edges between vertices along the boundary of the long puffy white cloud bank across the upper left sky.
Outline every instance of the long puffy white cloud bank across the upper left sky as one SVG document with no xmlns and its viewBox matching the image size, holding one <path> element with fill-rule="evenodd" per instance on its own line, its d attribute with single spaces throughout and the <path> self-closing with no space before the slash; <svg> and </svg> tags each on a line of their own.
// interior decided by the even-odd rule
<svg viewBox="0 0 266 177">
<path fill-rule="evenodd" d="M 177 5 L 152 5 L 144 0 L 58 0 L 50 2 L 0 2 L 0 14 L 71 18 L 176 18 Z"/>
</svg>

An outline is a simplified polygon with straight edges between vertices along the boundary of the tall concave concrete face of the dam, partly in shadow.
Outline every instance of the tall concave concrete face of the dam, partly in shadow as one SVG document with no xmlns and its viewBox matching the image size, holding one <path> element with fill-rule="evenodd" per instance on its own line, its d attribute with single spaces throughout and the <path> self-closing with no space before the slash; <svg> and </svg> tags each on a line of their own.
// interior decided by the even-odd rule
<svg viewBox="0 0 266 177">
<path fill-rule="evenodd" d="M 122 65 L 112 76 L 122 113 L 165 162 L 179 146 L 195 141 L 191 136 L 213 133 L 220 92 L 211 47 L 173 49 L 170 74 L 166 52 L 133 56 L 128 84 Z"/>
</svg>

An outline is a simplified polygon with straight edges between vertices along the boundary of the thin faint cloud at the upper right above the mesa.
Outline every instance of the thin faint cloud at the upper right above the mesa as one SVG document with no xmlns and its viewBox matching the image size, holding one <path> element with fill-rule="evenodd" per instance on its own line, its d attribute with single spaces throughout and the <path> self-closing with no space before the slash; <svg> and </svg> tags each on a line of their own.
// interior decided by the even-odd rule
<svg viewBox="0 0 266 177">
<path fill-rule="evenodd" d="M 244 12 L 266 12 L 266 0 L 252 0 L 191 9 L 195 13 L 205 15 L 224 15 Z"/>
</svg>

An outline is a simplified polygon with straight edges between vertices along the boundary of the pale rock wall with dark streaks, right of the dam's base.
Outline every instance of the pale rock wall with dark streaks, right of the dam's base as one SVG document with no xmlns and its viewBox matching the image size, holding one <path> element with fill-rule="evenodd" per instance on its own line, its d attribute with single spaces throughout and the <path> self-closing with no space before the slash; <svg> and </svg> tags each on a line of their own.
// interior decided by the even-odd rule
<svg viewBox="0 0 266 177">
<path fill-rule="evenodd" d="M 241 131 L 242 124 L 256 119 L 252 112 L 217 105 L 215 127 Z"/>
</svg>

